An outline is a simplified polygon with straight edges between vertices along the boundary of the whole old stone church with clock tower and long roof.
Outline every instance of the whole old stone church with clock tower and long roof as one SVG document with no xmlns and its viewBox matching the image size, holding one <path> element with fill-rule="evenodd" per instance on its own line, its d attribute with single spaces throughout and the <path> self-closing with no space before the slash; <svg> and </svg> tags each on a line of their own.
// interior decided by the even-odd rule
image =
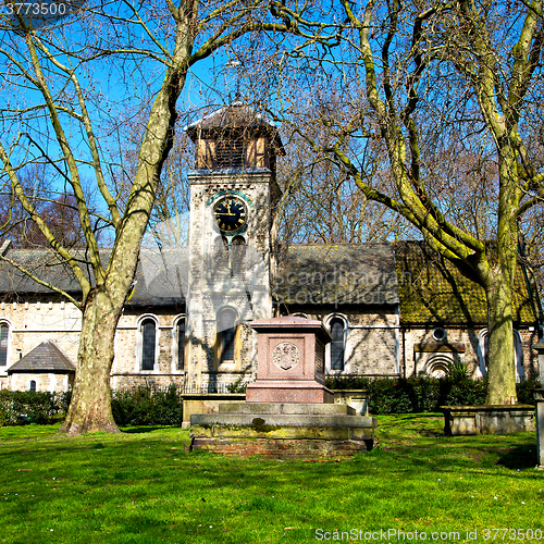
<svg viewBox="0 0 544 544">
<path fill-rule="evenodd" d="M 423 242 L 282 245 L 275 170 L 285 150 L 276 126 L 234 102 L 186 131 L 195 144 L 188 245 L 141 248 L 115 336 L 113 388 L 175 383 L 213 393 L 250 383 L 250 322 L 288 314 L 330 331 L 327 375 L 440 376 L 453 363 L 485 374 L 486 305 L 478 284 Z M 50 250 L 4 243 L 0 251 L 77 297 L 77 282 Z M 515 297 L 523 380 L 539 373 L 541 310 L 521 261 Z M 81 321 L 72 304 L 0 262 L 0 387 L 69 390 Z"/>
</svg>

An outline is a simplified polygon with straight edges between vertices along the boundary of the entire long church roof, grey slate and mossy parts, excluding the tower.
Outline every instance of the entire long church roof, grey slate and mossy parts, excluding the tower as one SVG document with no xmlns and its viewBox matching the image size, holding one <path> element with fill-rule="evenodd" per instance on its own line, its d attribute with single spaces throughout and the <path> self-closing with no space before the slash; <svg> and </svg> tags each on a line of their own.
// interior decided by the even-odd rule
<svg viewBox="0 0 544 544">
<path fill-rule="evenodd" d="M 50 283 L 77 294 L 79 286 L 51 251 L 11 249 Z M 103 251 L 104 260 L 109 251 Z M 91 276 L 89 272 L 89 276 Z M 188 290 L 188 249 L 141 248 L 136 286 L 127 306 L 180 306 Z M 515 319 L 534 323 L 527 284 L 518 267 Z M 0 261 L 0 294 L 50 294 Z M 483 288 L 422 242 L 394 244 L 294 245 L 280 252 L 272 296 L 286 305 L 400 305 L 404 324 L 486 323 Z"/>
</svg>

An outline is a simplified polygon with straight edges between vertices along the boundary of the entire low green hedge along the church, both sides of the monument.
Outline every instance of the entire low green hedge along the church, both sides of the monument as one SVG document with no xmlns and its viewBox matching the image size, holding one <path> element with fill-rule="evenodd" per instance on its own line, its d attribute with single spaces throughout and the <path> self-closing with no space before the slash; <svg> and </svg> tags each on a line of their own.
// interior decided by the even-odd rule
<svg viewBox="0 0 544 544">
<path fill-rule="evenodd" d="M 454 374 L 445 379 L 418 376 L 408 379 L 368 379 L 330 376 L 331 390 L 368 390 L 372 415 L 435 412 L 440 406 L 481 405 L 485 403 L 486 379 L 471 380 Z M 533 404 L 536 380 L 517 384 L 518 400 Z M 71 393 L 39 393 L 0 390 L 0 426 L 27 423 L 52 423 L 62 419 Z M 119 425 L 181 425 L 182 390 L 139 386 L 112 392 L 111 408 Z"/>
</svg>

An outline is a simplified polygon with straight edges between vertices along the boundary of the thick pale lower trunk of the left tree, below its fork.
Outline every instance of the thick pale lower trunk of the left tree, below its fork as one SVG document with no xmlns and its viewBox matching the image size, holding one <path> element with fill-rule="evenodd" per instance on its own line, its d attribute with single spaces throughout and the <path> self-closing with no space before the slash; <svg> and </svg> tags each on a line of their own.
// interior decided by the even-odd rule
<svg viewBox="0 0 544 544">
<path fill-rule="evenodd" d="M 72 401 L 59 433 L 120 432 L 111 411 L 110 371 L 123 301 L 112 300 L 103 290 L 89 298 L 83 314 Z"/>
</svg>

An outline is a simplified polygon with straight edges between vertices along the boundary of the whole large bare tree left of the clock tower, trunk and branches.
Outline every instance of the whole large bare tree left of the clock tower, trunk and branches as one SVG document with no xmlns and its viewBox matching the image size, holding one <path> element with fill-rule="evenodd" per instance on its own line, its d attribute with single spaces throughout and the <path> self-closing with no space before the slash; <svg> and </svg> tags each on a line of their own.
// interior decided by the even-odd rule
<svg viewBox="0 0 544 544">
<path fill-rule="evenodd" d="M 17 5 L 10 0 L 8 4 L 14 10 Z M 118 432 L 110 405 L 115 329 L 173 146 L 182 89 L 197 62 L 240 36 L 287 29 L 277 22 L 268 24 L 267 16 L 261 0 L 89 2 L 71 17 L 48 20 L 37 28 L 30 15 L 17 15 L 16 10 L 1 16 L 2 174 L 82 289 L 76 298 L 5 259 L 83 312 L 63 433 Z M 127 148 L 122 128 L 146 109 L 137 166 L 128 176 L 120 160 Z M 85 235 L 85 259 L 63 245 L 25 191 L 20 174 L 33 162 L 47 163 L 70 188 Z M 92 176 L 101 198 L 96 219 L 110 228 L 113 247 L 107 262 L 100 258 L 85 176 Z"/>
</svg>

